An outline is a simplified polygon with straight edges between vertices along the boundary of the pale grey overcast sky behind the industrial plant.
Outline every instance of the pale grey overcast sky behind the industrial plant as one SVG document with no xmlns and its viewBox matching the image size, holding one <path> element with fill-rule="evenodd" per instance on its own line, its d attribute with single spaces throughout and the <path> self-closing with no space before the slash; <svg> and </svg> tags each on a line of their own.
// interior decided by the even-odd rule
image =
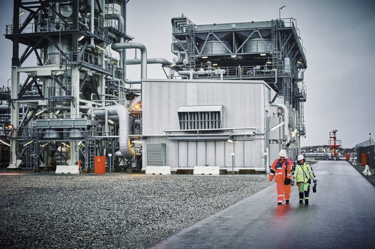
<svg viewBox="0 0 375 249">
<path fill-rule="evenodd" d="M 5 25 L 12 23 L 13 4 L 0 2 L 4 34 Z M 375 69 L 371 66 L 375 65 L 375 1 L 130 0 L 127 33 L 147 47 L 148 57 L 172 61 L 172 17 L 184 13 L 198 25 L 269 21 L 279 18 L 283 5 L 287 7 L 281 10 L 281 18 L 297 20 L 306 48 L 306 138 L 301 139 L 302 146 L 328 144 L 333 129 L 345 147 L 368 139 L 369 132 L 375 137 Z M 1 85 L 6 85 L 12 42 L 2 37 L 1 48 L 0 78 Z M 127 58 L 134 58 L 133 49 L 127 51 Z M 24 65 L 35 65 L 34 56 Z M 137 65 L 127 66 L 127 78 L 139 80 L 139 71 Z M 149 65 L 147 72 L 148 78 L 165 78 L 160 65 Z"/>
</svg>

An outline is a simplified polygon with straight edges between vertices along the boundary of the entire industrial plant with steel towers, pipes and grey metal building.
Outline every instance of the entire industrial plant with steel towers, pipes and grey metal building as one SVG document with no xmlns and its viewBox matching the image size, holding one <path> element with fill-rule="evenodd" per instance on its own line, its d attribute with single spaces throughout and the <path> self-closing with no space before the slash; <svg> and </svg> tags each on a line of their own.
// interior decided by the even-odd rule
<svg viewBox="0 0 375 249">
<path fill-rule="evenodd" d="M 128 1 L 13 2 L 11 78 L 0 89 L 3 165 L 248 174 L 268 172 L 283 148 L 296 159 L 307 62 L 294 18 L 199 25 L 175 13 L 169 62 L 132 42 Z M 127 49 L 141 58 L 127 60 Z M 35 65 L 24 66 L 30 56 Z M 148 79 L 151 63 L 165 79 Z M 137 81 L 126 65 L 140 65 Z"/>
</svg>

